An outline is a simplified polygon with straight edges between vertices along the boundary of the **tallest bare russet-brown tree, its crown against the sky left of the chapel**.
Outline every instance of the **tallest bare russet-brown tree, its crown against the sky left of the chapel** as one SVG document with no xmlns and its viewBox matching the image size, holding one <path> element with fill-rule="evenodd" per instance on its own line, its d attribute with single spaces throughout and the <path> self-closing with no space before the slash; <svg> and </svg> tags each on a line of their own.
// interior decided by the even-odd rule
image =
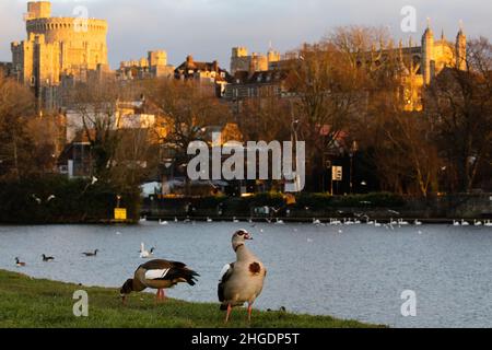
<svg viewBox="0 0 492 350">
<path fill-rule="evenodd" d="M 387 44 L 379 32 L 337 28 L 320 43 L 304 45 L 292 65 L 294 74 L 288 84 L 295 93 L 300 133 L 308 141 L 311 184 L 318 184 L 317 188 L 325 187 L 319 174 L 326 173 L 326 161 L 343 149 L 350 126 L 366 113 L 367 83 Z"/>
</svg>

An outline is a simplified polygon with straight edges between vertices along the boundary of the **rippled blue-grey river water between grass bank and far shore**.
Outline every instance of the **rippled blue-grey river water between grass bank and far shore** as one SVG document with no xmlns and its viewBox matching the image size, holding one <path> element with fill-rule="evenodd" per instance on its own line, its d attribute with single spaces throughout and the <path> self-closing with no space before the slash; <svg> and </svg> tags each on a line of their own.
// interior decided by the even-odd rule
<svg viewBox="0 0 492 350">
<path fill-rule="evenodd" d="M 246 228 L 250 248 L 269 273 L 261 308 L 329 314 L 398 327 L 492 327 L 492 230 L 446 225 L 395 231 L 368 225 L 144 223 L 139 226 L 0 226 L 0 268 L 33 277 L 120 287 L 144 260 L 155 257 L 196 269 L 199 283 L 169 295 L 216 301 L 224 264 L 234 261 L 231 236 Z M 96 258 L 81 253 L 98 248 Z M 42 254 L 56 257 L 43 262 Z M 19 256 L 27 267 L 17 269 Z M 418 316 L 403 318 L 401 292 L 413 290 Z M 117 291 L 115 290 L 115 293 Z"/>
</svg>

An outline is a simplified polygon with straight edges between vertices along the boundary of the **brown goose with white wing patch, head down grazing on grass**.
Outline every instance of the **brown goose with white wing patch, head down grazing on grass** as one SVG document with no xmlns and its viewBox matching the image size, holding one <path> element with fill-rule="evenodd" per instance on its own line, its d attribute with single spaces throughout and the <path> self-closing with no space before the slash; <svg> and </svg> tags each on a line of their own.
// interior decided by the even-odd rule
<svg viewBox="0 0 492 350">
<path fill-rule="evenodd" d="M 185 264 L 167 260 L 151 260 L 134 271 L 133 279 L 129 279 L 121 287 L 121 301 L 125 304 L 127 295 L 131 292 L 141 292 L 148 288 L 156 289 L 156 301 L 165 299 L 164 290 L 178 283 L 196 284 L 197 272 L 190 270 Z"/>
</svg>

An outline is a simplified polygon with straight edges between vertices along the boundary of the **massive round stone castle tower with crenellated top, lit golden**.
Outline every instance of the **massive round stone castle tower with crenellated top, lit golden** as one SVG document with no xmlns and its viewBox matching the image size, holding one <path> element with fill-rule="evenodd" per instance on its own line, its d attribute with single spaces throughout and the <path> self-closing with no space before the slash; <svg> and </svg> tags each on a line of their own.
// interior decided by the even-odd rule
<svg viewBox="0 0 492 350">
<path fill-rule="evenodd" d="M 12 73 L 31 85 L 44 105 L 62 77 L 85 81 L 108 71 L 107 23 L 103 20 L 52 18 L 49 1 L 27 3 L 27 38 L 11 44 Z M 45 91 L 46 90 L 46 91 Z"/>
</svg>

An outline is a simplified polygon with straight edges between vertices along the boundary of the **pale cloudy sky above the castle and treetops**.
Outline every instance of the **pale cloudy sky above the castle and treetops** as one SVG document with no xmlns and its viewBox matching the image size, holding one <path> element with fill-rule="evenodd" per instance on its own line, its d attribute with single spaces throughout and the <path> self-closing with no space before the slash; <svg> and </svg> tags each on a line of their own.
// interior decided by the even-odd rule
<svg viewBox="0 0 492 350">
<path fill-rule="evenodd" d="M 490 0 L 52 0 L 52 15 L 85 7 L 108 21 L 109 63 L 164 49 L 179 65 L 187 55 L 219 60 L 229 69 L 231 49 L 281 52 L 320 39 L 337 26 L 388 26 L 396 39 L 420 40 L 427 18 L 436 36 L 454 39 L 462 20 L 469 37 L 492 37 Z M 11 61 L 10 43 L 25 39 L 26 0 L 0 0 L 0 61 Z M 403 33 L 401 9 L 417 10 L 417 33 Z"/>
</svg>

